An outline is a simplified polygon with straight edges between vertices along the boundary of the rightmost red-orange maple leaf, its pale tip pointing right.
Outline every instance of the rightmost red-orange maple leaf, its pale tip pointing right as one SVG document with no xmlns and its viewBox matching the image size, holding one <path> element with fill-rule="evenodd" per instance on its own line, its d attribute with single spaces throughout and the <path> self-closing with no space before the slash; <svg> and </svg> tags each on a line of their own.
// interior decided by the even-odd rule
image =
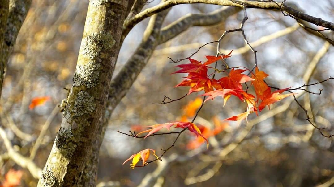
<svg viewBox="0 0 334 187">
<path fill-rule="evenodd" d="M 270 104 L 273 104 L 273 103 L 275 103 L 279 100 L 282 100 L 283 98 L 288 97 L 290 95 L 294 95 L 294 93 L 282 94 L 283 92 L 287 91 L 290 88 L 277 90 L 277 91 L 271 93 L 271 89 L 268 87 L 268 89 L 263 94 L 262 102 L 259 105 L 259 111 L 261 112 L 261 110 L 263 110 L 267 105 L 268 105 L 268 108 L 269 108 Z"/>
</svg>

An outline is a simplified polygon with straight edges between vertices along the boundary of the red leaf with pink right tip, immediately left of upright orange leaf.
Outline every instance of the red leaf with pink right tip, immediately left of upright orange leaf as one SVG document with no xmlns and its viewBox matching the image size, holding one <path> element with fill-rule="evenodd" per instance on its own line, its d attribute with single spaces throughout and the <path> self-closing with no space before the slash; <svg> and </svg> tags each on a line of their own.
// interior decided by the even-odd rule
<svg viewBox="0 0 334 187">
<path fill-rule="evenodd" d="M 248 81 L 254 81 L 255 79 L 248 77 L 245 74 L 242 74 L 246 70 L 234 70 L 230 71 L 227 77 L 222 77 L 218 80 L 221 87 L 224 89 L 238 89 L 242 90 L 242 83 Z"/>
</svg>

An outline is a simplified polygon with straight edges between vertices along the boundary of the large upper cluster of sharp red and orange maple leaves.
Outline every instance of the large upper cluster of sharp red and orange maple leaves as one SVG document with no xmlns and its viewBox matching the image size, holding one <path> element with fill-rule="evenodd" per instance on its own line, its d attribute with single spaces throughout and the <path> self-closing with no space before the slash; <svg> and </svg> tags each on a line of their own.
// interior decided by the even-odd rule
<svg viewBox="0 0 334 187">
<path fill-rule="evenodd" d="M 231 95 L 236 96 L 243 102 L 247 102 L 246 112 L 225 119 L 233 121 L 245 119 L 250 113 L 253 112 L 258 114 L 258 111 L 261 112 L 265 106 L 269 106 L 272 103 L 292 95 L 282 94 L 289 88 L 272 92 L 271 88 L 264 81 L 264 79 L 269 75 L 263 71 L 259 71 L 258 67 L 255 69 L 255 74 L 251 72 L 251 77 L 242 74 L 243 72 L 247 71 L 247 69 L 232 68 L 229 72 L 229 75 L 226 77 L 222 77 L 219 80 L 210 78 L 210 75 L 212 74 L 208 75 L 207 70 L 211 67 L 208 65 L 218 60 L 224 60 L 224 58 L 230 57 L 229 55 L 230 54 L 220 55 L 218 57 L 206 56 L 207 61 L 203 64 L 202 62 L 198 62 L 194 59 L 189 59 L 190 64 L 176 66 L 181 68 L 181 70 L 178 70 L 174 73 L 188 73 L 188 76 L 184 77 L 185 79 L 175 87 L 189 86 L 190 89 L 188 94 L 204 90 L 205 94 L 201 94 L 199 96 L 208 96 L 205 101 L 214 99 L 217 96 L 221 96 L 224 98 L 224 105 Z M 254 87 L 255 93 L 257 95 L 256 97 L 253 94 L 247 93 L 247 90 L 243 90 L 242 83 L 246 82 L 251 82 L 251 86 Z M 261 102 L 259 104 L 260 100 Z"/>
</svg>

